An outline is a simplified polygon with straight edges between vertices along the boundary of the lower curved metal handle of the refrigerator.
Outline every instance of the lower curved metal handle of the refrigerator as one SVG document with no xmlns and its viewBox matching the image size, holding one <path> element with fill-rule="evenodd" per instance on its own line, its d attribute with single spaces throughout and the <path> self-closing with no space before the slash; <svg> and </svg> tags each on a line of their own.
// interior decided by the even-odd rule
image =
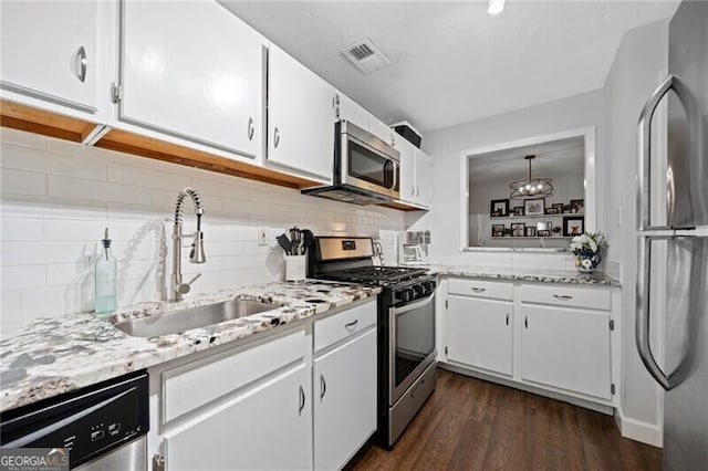
<svg viewBox="0 0 708 471">
<path fill-rule="evenodd" d="M 652 346 L 649 344 L 649 270 L 647 266 L 648 260 L 652 257 L 652 238 L 639 238 L 639 253 L 637 258 L 637 287 L 636 287 L 636 320 L 635 320 L 635 339 L 637 345 L 637 352 L 642 363 L 649 371 L 649 374 L 656 379 L 656 381 L 666 390 L 670 390 L 676 384 L 673 378 L 662 370 L 662 367 L 656 363 L 654 354 L 652 353 Z M 642 240 L 643 239 L 643 240 Z"/>
</svg>

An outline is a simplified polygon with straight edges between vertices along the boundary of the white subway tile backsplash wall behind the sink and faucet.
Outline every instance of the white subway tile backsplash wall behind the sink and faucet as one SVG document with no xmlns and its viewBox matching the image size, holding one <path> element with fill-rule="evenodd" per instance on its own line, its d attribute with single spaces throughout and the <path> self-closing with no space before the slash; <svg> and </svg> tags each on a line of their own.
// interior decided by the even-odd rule
<svg viewBox="0 0 708 471">
<path fill-rule="evenodd" d="M 171 218 L 187 186 L 204 196 L 207 262 L 195 293 L 282 280 L 275 236 L 298 224 L 315 234 L 377 236 L 403 230 L 403 212 L 357 207 L 275 187 L 121 153 L 1 129 L 0 335 L 39 316 L 93 308 L 92 262 L 108 227 L 118 259 L 118 304 L 165 296 Z M 194 231 L 191 201 L 185 233 Z M 268 247 L 257 228 L 268 227 Z"/>
</svg>

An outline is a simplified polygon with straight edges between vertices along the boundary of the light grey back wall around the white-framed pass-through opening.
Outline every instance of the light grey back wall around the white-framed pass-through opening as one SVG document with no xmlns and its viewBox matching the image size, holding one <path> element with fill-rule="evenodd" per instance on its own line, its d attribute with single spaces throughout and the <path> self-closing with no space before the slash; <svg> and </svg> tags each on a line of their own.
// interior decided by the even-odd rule
<svg viewBox="0 0 708 471">
<path fill-rule="evenodd" d="M 412 230 L 433 230 L 430 255 L 433 260 L 468 264 L 494 264 L 511 266 L 546 266 L 574 270 L 566 254 L 540 253 L 479 253 L 461 252 L 460 208 L 465 205 L 465 191 L 460 188 L 460 153 L 508 142 L 550 135 L 587 126 L 596 127 L 597 148 L 602 148 L 603 93 L 594 91 L 529 108 L 478 119 L 459 126 L 426 134 L 425 150 L 434 156 L 435 185 L 433 210 L 424 217 L 410 216 Z M 470 106 L 473 106 L 470 103 Z M 596 169 L 601 171 L 604 156 L 597 156 Z M 597 182 L 598 211 L 603 193 Z M 602 221 L 603 216 L 597 214 Z M 600 227 L 602 229 L 602 227 Z"/>
</svg>

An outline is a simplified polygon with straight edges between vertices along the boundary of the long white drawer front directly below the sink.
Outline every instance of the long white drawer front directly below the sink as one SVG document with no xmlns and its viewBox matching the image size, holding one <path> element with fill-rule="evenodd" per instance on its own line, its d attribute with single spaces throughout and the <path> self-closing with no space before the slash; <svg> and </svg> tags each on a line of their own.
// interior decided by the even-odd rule
<svg viewBox="0 0 708 471">
<path fill-rule="evenodd" d="M 163 420 L 168 422 L 285 365 L 304 358 L 304 331 L 235 353 L 225 352 L 163 373 Z"/>
</svg>

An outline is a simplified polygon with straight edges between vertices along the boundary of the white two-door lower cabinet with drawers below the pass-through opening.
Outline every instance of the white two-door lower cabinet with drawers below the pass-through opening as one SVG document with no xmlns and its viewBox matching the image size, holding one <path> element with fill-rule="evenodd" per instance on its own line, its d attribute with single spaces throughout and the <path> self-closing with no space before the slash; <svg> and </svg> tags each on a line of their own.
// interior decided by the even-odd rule
<svg viewBox="0 0 708 471">
<path fill-rule="evenodd" d="M 442 364 L 589 407 L 616 404 L 618 290 L 464 278 L 441 285 Z"/>
</svg>

